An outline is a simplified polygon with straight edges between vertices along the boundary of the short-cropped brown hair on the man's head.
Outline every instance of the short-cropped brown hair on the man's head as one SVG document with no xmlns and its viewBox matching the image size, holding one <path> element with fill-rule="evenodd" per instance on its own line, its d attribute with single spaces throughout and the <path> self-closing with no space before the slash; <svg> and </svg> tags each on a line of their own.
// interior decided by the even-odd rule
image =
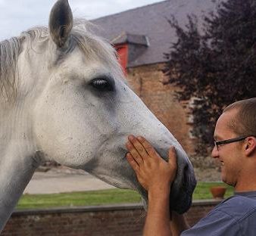
<svg viewBox="0 0 256 236">
<path fill-rule="evenodd" d="M 236 101 L 227 106 L 223 113 L 236 110 L 236 116 L 230 120 L 228 126 L 237 135 L 256 135 L 256 98 Z"/>
</svg>

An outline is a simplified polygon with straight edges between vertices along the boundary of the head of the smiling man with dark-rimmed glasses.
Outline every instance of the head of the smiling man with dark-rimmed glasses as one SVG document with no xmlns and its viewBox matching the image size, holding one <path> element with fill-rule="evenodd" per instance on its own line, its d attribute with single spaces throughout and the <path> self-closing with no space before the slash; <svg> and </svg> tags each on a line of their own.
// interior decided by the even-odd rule
<svg viewBox="0 0 256 236">
<path fill-rule="evenodd" d="M 216 144 L 212 157 L 220 160 L 223 182 L 235 186 L 236 190 L 251 168 L 256 172 L 255 108 L 256 98 L 230 104 L 214 130 Z"/>
</svg>

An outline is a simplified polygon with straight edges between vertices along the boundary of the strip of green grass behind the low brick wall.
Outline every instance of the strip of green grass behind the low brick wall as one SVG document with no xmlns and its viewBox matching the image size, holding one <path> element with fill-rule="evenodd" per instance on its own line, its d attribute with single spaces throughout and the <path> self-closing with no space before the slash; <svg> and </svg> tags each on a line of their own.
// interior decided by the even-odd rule
<svg viewBox="0 0 256 236">
<path fill-rule="evenodd" d="M 193 199 L 211 199 L 209 188 L 214 185 L 227 186 L 220 182 L 198 182 Z M 233 195 L 233 188 L 228 186 L 225 197 L 231 195 Z M 100 206 L 118 203 L 139 203 L 140 201 L 141 198 L 135 191 L 123 189 L 83 191 L 65 194 L 24 194 L 17 204 L 17 209 Z"/>
</svg>

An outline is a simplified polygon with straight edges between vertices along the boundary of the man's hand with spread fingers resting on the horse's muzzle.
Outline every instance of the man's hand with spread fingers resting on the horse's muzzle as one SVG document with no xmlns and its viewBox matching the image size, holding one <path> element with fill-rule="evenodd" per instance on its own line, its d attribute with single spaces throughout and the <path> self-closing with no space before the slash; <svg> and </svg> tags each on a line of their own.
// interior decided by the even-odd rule
<svg viewBox="0 0 256 236">
<path fill-rule="evenodd" d="M 175 148 L 170 148 L 169 161 L 166 162 L 145 138 L 130 135 L 128 140 L 126 148 L 129 153 L 126 158 L 142 187 L 148 193 L 161 194 L 170 191 L 177 168 Z"/>
</svg>

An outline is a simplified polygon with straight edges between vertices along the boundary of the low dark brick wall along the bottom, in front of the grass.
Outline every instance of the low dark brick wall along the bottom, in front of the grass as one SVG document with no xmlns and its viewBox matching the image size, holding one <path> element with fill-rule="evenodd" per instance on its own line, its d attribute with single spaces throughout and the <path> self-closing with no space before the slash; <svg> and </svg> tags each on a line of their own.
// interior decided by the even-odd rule
<svg viewBox="0 0 256 236">
<path fill-rule="evenodd" d="M 192 204 L 190 225 L 204 217 L 218 201 Z M 141 236 L 145 212 L 141 204 L 16 211 L 2 236 Z"/>
</svg>

